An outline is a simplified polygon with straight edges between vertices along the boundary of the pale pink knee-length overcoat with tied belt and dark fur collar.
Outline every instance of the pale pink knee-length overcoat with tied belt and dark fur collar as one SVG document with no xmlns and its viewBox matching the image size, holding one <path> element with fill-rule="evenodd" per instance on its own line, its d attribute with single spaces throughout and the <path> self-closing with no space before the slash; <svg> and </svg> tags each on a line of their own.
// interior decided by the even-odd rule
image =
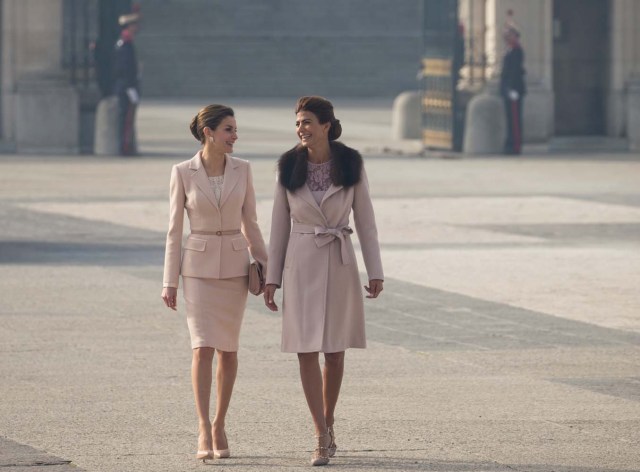
<svg viewBox="0 0 640 472">
<path fill-rule="evenodd" d="M 352 210 L 368 278 L 384 275 L 362 159 L 357 151 L 332 143 L 333 165 L 345 171 L 318 205 L 306 183 L 295 190 L 283 185 L 283 179 L 290 181 L 283 161 L 289 169 L 298 167 L 293 173 L 306 173 L 306 154 L 296 149 L 280 159 L 269 241 L 267 283 L 284 291 L 282 351 L 364 348 L 364 289 L 350 237 Z M 349 172 L 355 175 L 345 177 Z"/>
</svg>

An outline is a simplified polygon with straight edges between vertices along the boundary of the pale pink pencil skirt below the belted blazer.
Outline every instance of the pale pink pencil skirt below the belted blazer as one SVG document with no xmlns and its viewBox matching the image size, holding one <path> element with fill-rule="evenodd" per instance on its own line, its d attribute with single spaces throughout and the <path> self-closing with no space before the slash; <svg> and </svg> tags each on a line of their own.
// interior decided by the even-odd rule
<svg viewBox="0 0 640 472">
<path fill-rule="evenodd" d="M 183 277 L 182 290 L 187 305 L 191 348 L 237 351 L 249 293 L 249 277 Z"/>
</svg>

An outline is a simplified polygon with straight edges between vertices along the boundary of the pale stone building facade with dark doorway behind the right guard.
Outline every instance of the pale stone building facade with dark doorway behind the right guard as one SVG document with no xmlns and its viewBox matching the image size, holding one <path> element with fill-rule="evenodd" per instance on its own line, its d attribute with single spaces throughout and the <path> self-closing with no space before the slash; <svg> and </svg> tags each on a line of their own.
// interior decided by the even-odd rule
<svg viewBox="0 0 640 472">
<path fill-rule="evenodd" d="M 526 141 L 637 133 L 630 104 L 640 80 L 640 2 L 460 0 L 468 32 L 462 87 L 495 86 L 510 11 L 526 56 Z"/>
</svg>

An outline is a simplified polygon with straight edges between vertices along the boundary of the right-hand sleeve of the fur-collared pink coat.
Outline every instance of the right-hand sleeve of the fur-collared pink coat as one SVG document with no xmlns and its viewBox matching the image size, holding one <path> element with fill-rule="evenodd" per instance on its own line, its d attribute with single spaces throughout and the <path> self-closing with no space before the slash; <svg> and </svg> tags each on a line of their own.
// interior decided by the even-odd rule
<svg viewBox="0 0 640 472">
<path fill-rule="evenodd" d="M 362 257 L 367 269 L 369 280 L 384 280 L 382 272 L 382 259 L 380 257 L 380 244 L 378 243 L 378 228 L 373 212 L 373 204 L 369 195 L 369 181 L 367 173 L 362 168 L 360 181 L 354 186 L 353 194 L 353 220 L 356 225 Z"/>
</svg>

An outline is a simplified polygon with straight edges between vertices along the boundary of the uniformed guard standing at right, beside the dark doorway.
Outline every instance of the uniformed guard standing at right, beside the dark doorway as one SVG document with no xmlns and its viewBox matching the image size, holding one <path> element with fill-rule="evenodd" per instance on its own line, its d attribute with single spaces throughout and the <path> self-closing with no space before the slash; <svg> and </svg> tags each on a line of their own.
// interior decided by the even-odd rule
<svg viewBox="0 0 640 472">
<path fill-rule="evenodd" d="M 507 118 L 505 154 L 522 152 L 522 101 L 526 94 L 524 82 L 524 51 L 520 45 L 520 32 L 510 26 L 504 33 L 507 52 L 502 59 L 500 94 L 504 100 Z"/>
</svg>

